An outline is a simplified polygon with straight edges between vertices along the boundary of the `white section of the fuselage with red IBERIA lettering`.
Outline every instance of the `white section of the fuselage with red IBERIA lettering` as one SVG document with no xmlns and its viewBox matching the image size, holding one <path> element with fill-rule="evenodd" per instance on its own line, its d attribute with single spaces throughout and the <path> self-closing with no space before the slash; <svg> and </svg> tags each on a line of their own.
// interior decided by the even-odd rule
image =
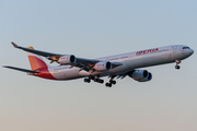
<svg viewBox="0 0 197 131">
<path fill-rule="evenodd" d="M 57 80 L 71 80 L 89 75 L 119 75 L 138 68 L 165 64 L 175 62 L 175 60 L 183 60 L 189 57 L 193 52 L 194 50 L 189 49 L 187 46 L 174 45 L 99 58 L 96 60 L 123 63 L 123 66 L 104 72 L 95 71 L 91 73 L 84 70 L 80 71 L 80 68 L 70 68 L 70 66 L 49 67 L 48 70 Z"/>
</svg>

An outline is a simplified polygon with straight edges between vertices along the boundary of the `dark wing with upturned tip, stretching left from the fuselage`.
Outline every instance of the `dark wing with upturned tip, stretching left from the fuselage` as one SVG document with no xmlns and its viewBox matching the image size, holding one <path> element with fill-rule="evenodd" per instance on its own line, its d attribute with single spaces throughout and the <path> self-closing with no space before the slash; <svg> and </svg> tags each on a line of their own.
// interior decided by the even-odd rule
<svg viewBox="0 0 197 131">
<path fill-rule="evenodd" d="M 56 61 L 60 64 L 70 64 L 72 67 L 78 67 L 80 68 L 80 70 L 85 70 L 85 71 L 94 71 L 94 66 L 99 62 L 104 62 L 104 61 L 101 61 L 101 60 L 96 60 L 96 59 L 85 59 L 85 58 L 76 58 L 73 55 L 60 55 L 60 53 L 51 53 L 51 52 L 46 52 L 46 51 L 40 51 L 40 50 L 35 50 L 35 49 L 30 49 L 30 48 L 25 48 L 25 47 L 21 47 L 21 46 L 18 46 L 16 44 L 14 44 L 13 41 L 11 43 L 15 48 L 19 48 L 19 49 L 22 49 L 24 51 L 28 51 L 28 52 L 32 52 L 32 53 L 36 53 L 36 55 L 39 55 L 39 56 L 43 56 L 43 57 L 46 57 L 48 60 L 50 60 L 50 63 Z M 68 57 L 67 57 L 68 56 Z M 74 62 L 65 62 L 65 63 L 61 63 L 60 60 L 62 60 L 65 57 L 65 59 L 69 59 L 69 58 L 73 58 Z M 112 64 L 112 69 L 113 68 L 116 68 L 116 67 L 119 67 L 119 66 L 123 66 L 123 63 L 120 62 L 111 62 Z"/>
</svg>

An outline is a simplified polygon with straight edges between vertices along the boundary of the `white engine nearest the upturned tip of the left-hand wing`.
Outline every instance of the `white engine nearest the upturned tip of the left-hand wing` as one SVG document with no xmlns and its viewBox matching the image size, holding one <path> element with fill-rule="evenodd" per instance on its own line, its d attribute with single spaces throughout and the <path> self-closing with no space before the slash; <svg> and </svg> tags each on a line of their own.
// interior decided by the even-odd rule
<svg viewBox="0 0 197 131">
<path fill-rule="evenodd" d="M 67 55 L 59 58 L 58 63 L 70 64 L 76 63 L 76 57 L 73 55 Z"/>
</svg>

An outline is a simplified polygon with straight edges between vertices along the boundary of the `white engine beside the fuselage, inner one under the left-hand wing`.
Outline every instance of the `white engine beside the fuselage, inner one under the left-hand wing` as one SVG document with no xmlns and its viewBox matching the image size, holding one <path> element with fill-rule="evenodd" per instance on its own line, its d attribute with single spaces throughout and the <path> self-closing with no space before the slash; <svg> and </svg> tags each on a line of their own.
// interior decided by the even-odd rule
<svg viewBox="0 0 197 131">
<path fill-rule="evenodd" d="M 111 62 L 108 62 L 108 61 L 97 62 L 97 63 L 94 66 L 94 69 L 95 69 L 96 71 L 107 71 L 107 70 L 111 70 L 111 69 L 112 69 L 112 64 L 111 64 Z"/>
</svg>

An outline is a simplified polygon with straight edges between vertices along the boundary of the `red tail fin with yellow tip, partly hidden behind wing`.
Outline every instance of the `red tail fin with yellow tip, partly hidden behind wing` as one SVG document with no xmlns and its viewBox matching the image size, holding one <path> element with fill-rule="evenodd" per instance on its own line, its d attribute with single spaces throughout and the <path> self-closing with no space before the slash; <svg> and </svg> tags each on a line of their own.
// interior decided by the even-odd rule
<svg viewBox="0 0 197 131">
<path fill-rule="evenodd" d="M 27 47 L 30 49 L 34 49 L 33 47 Z M 32 70 L 37 70 L 37 69 L 47 69 L 48 66 L 45 63 L 45 61 L 40 58 L 40 56 L 27 52 L 30 64 Z"/>
</svg>

